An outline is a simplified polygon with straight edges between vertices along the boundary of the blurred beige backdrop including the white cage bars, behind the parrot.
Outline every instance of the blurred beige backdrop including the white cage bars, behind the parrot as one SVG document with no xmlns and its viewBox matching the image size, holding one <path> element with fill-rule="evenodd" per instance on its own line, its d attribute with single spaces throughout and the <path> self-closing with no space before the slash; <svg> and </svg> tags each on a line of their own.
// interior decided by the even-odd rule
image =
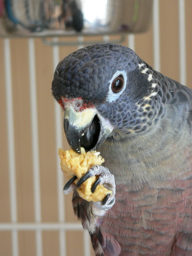
<svg viewBox="0 0 192 256">
<path fill-rule="evenodd" d="M 133 29 L 120 44 L 192 88 L 191 14 L 191 0 L 154 0 L 149 28 Z M 0 256 L 94 255 L 88 232 L 74 216 L 72 194 L 62 193 L 66 180 L 57 152 L 69 146 L 51 82 L 66 55 L 119 37 L 48 38 L 67 46 L 47 46 L 38 36 L 0 38 Z"/>
</svg>

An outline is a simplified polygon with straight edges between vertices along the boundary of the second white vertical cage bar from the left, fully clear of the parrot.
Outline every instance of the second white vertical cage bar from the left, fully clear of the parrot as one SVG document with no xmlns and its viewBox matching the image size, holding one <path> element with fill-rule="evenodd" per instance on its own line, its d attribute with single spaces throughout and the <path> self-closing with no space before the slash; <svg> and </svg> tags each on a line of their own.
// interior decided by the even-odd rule
<svg viewBox="0 0 192 256">
<path fill-rule="evenodd" d="M 36 93 L 35 46 L 34 39 L 28 39 L 29 76 L 30 76 L 30 110 L 32 125 L 32 158 L 34 182 L 35 221 L 41 222 L 40 168 L 38 142 L 38 110 Z M 36 256 L 42 256 L 42 232 L 36 230 Z"/>
</svg>

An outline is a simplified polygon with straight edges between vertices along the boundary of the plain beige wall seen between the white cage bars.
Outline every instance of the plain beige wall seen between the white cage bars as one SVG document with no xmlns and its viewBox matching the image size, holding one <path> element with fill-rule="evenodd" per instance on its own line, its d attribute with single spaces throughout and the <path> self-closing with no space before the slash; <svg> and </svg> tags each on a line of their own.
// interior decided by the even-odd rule
<svg viewBox="0 0 192 256">
<path fill-rule="evenodd" d="M 178 1 L 160 0 L 160 70 L 166 76 L 180 80 Z M 186 22 L 186 81 L 192 88 L 192 1 L 185 0 Z M 156 14 L 154 14 L 156 15 Z M 111 38 L 114 38 L 112 36 Z M 92 40 L 92 38 L 87 38 Z M 102 39 L 102 38 L 97 38 Z M 86 40 L 86 38 L 85 38 Z M 128 46 L 128 36 L 122 44 Z M 150 30 L 134 37 L 135 51 L 148 64 L 154 66 L 153 24 Z M 4 39 L 0 39 L 0 222 L 11 222 L 8 127 L 6 117 L 6 75 L 4 62 Z M 32 122 L 30 108 L 30 68 L 28 39 L 10 39 L 12 78 L 12 104 L 14 121 L 14 152 L 16 170 L 16 206 L 19 223 L 34 223 L 34 182 L 32 158 Z M 40 168 L 41 222 L 58 223 L 57 152 L 55 135 L 54 100 L 51 95 L 53 77 L 53 49 L 41 39 L 34 39 L 35 71 L 38 113 L 38 143 Z M 76 46 L 60 46 L 59 58 L 76 50 Z M 11 97 L 8 97 L 11 99 Z M 8 102 L 10 104 L 10 102 Z M 60 124 L 62 126 L 62 123 Z M 62 143 L 61 143 L 62 145 Z M 68 149 L 63 134 L 63 148 Z M 14 159 L 14 156 L 12 156 Z M 62 184 L 66 180 L 63 178 Z M 62 187 L 59 188 L 62 193 Z M 71 194 L 64 196 L 66 223 L 76 223 L 71 204 Z M 78 222 L 79 223 L 79 222 Z M 45 256 L 59 255 L 59 231 L 42 231 L 42 250 Z M 84 233 L 81 230 L 66 231 L 66 255 L 84 255 Z M 36 255 L 36 232 L 18 231 L 20 256 Z M 12 233 L 0 230 L 0 256 L 12 255 Z"/>
</svg>

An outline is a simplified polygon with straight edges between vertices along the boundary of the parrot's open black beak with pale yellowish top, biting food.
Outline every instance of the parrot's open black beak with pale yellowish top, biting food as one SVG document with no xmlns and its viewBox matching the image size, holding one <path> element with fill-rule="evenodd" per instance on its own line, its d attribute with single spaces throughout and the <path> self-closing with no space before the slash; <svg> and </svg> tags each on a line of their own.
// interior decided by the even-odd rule
<svg viewBox="0 0 192 256">
<path fill-rule="evenodd" d="M 86 151 L 95 150 L 112 132 L 110 125 L 105 125 L 95 108 L 76 111 L 72 106 L 66 106 L 64 114 L 64 131 L 70 147 L 81 153 L 81 147 Z"/>
</svg>

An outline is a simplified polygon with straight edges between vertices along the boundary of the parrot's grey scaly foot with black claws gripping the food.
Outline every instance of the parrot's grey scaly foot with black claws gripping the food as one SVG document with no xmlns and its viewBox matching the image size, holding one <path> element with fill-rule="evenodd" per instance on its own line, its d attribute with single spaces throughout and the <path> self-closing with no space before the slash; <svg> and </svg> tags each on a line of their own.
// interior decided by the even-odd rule
<svg viewBox="0 0 192 256">
<path fill-rule="evenodd" d="M 77 182 L 77 187 L 80 188 L 83 182 L 85 182 L 88 178 L 99 175 L 97 180 L 94 182 L 91 188 L 91 192 L 94 193 L 96 190 L 96 187 L 100 185 L 104 185 L 105 188 L 108 190 L 112 190 L 112 194 L 107 194 L 105 198 L 102 200 L 102 202 L 93 202 L 94 206 L 100 210 L 109 210 L 112 208 L 112 206 L 115 203 L 115 179 L 114 176 L 110 173 L 108 168 L 102 166 L 102 165 L 95 165 L 92 168 L 80 178 L 80 180 Z"/>
</svg>

